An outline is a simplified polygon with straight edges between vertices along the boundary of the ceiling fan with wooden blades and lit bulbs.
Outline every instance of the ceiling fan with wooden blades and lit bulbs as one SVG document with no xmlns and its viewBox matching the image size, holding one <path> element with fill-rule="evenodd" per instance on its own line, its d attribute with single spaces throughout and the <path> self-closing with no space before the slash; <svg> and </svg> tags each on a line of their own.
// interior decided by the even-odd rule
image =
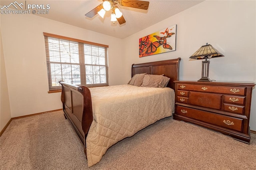
<svg viewBox="0 0 256 170">
<path fill-rule="evenodd" d="M 113 23 L 115 21 L 118 21 L 118 23 L 121 25 L 121 24 L 124 24 L 126 20 L 124 19 L 122 12 L 120 12 L 120 9 L 118 8 L 117 4 L 119 4 L 120 6 L 138 8 L 142 10 L 147 10 L 149 5 L 148 1 L 142 1 L 142 0 L 102 0 L 102 1 L 103 1 L 102 4 L 96 6 L 93 10 L 85 14 L 85 16 L 92 18 L 96 14 L 99 14 L 103 18 L 106 11 L 112 10 L 111 21 Z"/>
</svg>

